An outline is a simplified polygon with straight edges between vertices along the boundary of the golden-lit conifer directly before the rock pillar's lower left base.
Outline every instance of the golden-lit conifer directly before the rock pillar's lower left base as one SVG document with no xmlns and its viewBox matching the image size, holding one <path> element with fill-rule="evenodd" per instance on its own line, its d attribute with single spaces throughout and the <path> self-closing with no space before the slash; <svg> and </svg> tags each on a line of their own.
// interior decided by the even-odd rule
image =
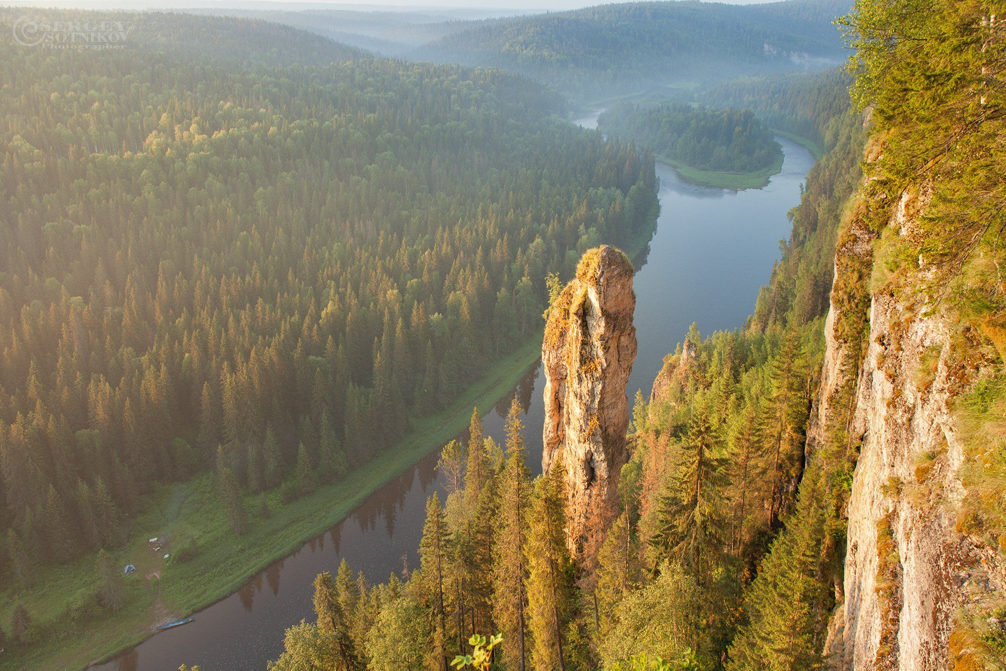
<svg viewBox="0 0 1006 671">
<path fill-rule="evenodd" d="M 572 563 L 565 542 L 564 471 L 554 467 L 534 483 L 524 558 L 531 664 L 565 669 L 565 629 L 572 615 Z"/>
</svg>

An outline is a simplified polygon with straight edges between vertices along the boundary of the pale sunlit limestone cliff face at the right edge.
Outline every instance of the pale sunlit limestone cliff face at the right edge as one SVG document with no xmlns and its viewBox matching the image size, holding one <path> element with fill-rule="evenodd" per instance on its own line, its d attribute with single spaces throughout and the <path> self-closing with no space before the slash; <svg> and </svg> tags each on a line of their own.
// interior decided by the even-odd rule
<svg viewBox="0 0 1006 671">
<path fill-rule="evenodd" d="M 925 205 L 905 195 L 889 226 L 911 235 Z M 869 292 L 861 272 L 872 241 L 854 216 L 836 256 L 809 432 L 811 458 L 829 427 L 844 426 L 859 444 L 844 584 L 825 652 L 838 669 L 942 669 L 960 609 L 1006 585 L 994 553 L 956 530 L 966 453 L 952 414 L 948 316 L 926 296 L 883 285 Z M 860 273 L 858 298 L 851 273 Z M 854 336 L 856 310 L 868 319 L 865 339 Z"/>
</svg>

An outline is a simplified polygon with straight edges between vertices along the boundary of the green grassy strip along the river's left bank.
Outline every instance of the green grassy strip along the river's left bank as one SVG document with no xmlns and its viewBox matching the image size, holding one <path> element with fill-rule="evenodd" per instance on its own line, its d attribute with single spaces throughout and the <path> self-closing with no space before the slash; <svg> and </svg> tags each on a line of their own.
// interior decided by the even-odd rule
<svg viewBox="0 0 1006 671">
<path fill-rule="evenodd" d="M 647 230 L 626 243 L 631 258 L 645 249 L 655 225 L 654 216 Z M 209 474 L 158 487 L 144 498 L 146 512 L 134 520 L 128 544 L 112 553 L 117 566 L 137 566 L 137 572 L 124 579 L 126 605 L 120 611 L 106 613 L 94 607 L 90 613 L 78 610 L 77 619 L 70 614 L 68 603 L 83 601 L 96 590 L 94 553 L 67 564 L 39 567 L 29 589 L 11 578 L 0 583 L 0 623 L 9 631 L 11 613 L 21 602 L 31 615 L 34 639 L 27 646 L 8 646 L 0 655 L 0 669 L 82 669 L 141 643 L 155 633 L 156 625 L 236 591 L 256 573 L 345 519 L 370 494 L 460 433 L 468 426 L 473 406 L 488 412 L 540 355 L 538 331 L 494 363 L 449 408 L 413 421 L 397 444 L 341 483 L 319 487 L 285 505 L 280 502 L 279 488 L 247 497 L 248 530 L 243 536 L 231 532 Z M 273 513 L 269 519 L 259 517 L 264 498 Z M 185 563 L 165 562 L 163 553 L 148 547 L 147 540 L 154 536 L 169 539 L 165 552 L 190 541 L 199 550 Z M 155 571 L 160 580 L 153 579 L 146 586 L 144 576 Z"/>
</svg>

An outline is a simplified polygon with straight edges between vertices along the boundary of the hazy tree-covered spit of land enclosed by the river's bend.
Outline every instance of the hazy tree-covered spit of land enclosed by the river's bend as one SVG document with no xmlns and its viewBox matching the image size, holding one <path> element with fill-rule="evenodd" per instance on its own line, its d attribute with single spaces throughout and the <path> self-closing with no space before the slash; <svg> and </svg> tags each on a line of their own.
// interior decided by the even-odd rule
<svg viewBox="0 0 1006 671">
<path fill-rule="evenodd" d="M 783 148 L 750 110 L 620 102 L 598 117 L 598 128 L 649 146 L 684 179 L 703 186 L 761 188 L 783 168 Z"/>
</svg>

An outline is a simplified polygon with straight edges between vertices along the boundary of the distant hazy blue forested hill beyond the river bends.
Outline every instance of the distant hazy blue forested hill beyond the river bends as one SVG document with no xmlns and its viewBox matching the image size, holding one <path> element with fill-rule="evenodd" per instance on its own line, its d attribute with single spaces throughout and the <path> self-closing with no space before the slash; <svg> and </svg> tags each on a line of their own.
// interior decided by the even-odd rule
<svg viewBox="0 0 1006 671">
<path fill-rule="evenodd" d="M 441 61 L 499 65 L 577 97 L 645 84 L 797 69 L 842 59 L 832 21 L 847 0 L 733 6 L 637 2 L 492 20 L 415 52 Z"/>
</svg>

